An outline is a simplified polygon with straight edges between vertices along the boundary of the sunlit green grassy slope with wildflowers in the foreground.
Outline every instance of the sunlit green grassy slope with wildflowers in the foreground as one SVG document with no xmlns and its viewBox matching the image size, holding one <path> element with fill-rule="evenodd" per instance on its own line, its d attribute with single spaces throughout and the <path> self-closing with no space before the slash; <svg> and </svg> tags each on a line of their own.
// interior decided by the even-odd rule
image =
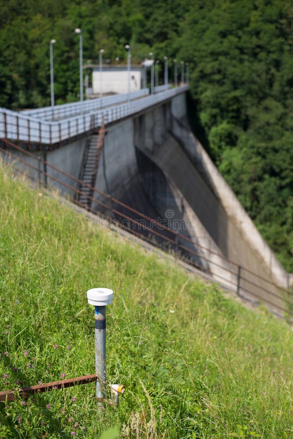
<svg viewBox="0 0 293 439">
<path fill-rule="evenodd" d="M 293 438 L 286 323 L 92 227 L 7 170 L 0 187 L 0 390 L 95 372 L 86 291 L 97 286 L 115 294 L 108 381 L 126 386 L 103 419 L 94 383 L 0 403 L 0 438 L 99 438 L 115 426 L 119 438 Z"/>
</svg>

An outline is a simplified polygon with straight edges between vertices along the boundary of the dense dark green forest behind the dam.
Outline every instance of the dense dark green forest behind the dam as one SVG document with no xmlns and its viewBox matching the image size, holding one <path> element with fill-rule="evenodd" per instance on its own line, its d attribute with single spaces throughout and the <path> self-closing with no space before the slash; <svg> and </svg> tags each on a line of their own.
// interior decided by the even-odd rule
<svg viewBox="0 0 293 439">
<path fill-rule="evenodd" d="M 287 271 L 293 272 L 293 3 L 290 0 L 1 0 L 0 106 L 78 100 L 83 60 L 189 62 L 190 121 Z M 162 62 L 160 80 L 163 80 Z M 173 78 L 173 62 L 169 63 Z"/>
</svg>

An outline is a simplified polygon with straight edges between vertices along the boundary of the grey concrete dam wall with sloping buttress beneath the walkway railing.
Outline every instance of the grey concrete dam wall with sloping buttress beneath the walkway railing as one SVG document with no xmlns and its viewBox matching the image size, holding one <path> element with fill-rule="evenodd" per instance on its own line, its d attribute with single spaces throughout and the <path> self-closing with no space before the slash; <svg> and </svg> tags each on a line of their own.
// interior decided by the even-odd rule
<svg viewBox="0 0 293 439">
<path fill-rule="evenodd" d="M 237 290 L 239 295 L 263 300 L 274 312 L 284 314 L 282 290 L 290 287 L 292 274 L 275 258 L 191 132 L 186 90 L 117 120 L 106 120 L 105 129 L 92 209 L 124 225 L 137 221 L 138 230 L 144 217 L 137 217 L 136 211 L 156 220 L 152 224 L 155 232 L 160 229 L 158 223 L 164 224 L 166 236 L 168 229 L 176 232 L 177 248 L 199 270 L 210 273 L 222 286 Z M 2 141 L 3 137 L 9 138 L 1 137 Z M 96 145 L 97 140 L 97 132 L 88 130 L 83 136 L 53 144 L 51 148 L 31 148 L 31 154 L 80 178 L 86 144 L 92 141 Z M 8 143 L 5 148 L 25 161 L 34 162 L 33 157 L 26 157 Z M 46 172 L 70 183 L 69 177 L 60 176 L 53 168 Z M 62 185 L 60 189 L 74 196 L 70 189 Z M 113 214 L 117 203 L 112 202 L 110 211 L 100 193 L 119 200 L 120 212 L 125 215 Z M 134 211 L 124 209 L 124 204 Z M 159 242 L 160 238 L 157 239 Z"/>
</svg>

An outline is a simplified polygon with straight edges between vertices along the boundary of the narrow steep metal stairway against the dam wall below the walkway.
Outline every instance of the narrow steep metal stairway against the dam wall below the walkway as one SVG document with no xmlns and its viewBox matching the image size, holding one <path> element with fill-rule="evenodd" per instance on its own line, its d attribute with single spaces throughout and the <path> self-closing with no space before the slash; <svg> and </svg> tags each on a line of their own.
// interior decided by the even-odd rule
<svg viewBox="0 0 293 439">
<path fill-rule="evenodd" d="M 104 120 L 102 120 L 98 133 L 94 132 L 87 139 L 80 167 L 79 180 L 81 180 L 83 184 L 78 184 L 78 202 L 87 206 L 88 210 L 91 209 L 93 202 L 92 198 L 97 180 L 98 163 L 106 131 Z"/>
</svg>

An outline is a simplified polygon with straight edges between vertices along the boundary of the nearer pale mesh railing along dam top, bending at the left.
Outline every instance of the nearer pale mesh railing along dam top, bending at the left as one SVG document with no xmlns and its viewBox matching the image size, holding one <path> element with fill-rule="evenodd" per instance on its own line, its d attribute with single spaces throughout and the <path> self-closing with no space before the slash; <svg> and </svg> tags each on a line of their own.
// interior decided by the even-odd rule
<svg viewBox="0 0 293 439">
<path fill-rule="evenodd" d="M 64 140 L 100 127 L 102 118 L 105 124 L 123 119 L 164 100 L 169 100 L 188 89 L 188 85 L 184 85 L 156 95 L 51 122 L 0 108 L 0 138 L 22 141 L 28 145 L 39 144 L 41 149 L 41 145 L 60 144 Z"/>
</svg>

